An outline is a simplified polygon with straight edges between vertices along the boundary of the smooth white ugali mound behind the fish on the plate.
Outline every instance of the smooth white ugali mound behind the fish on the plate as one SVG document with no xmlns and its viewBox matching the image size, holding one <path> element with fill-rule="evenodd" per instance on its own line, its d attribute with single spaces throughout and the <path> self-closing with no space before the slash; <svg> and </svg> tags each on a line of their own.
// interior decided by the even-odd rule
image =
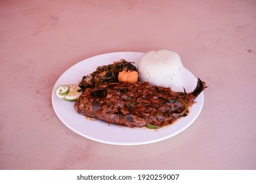
<svg viewBox="0 0 256 183">
<path fill-rule="evenodd" d="M 171 50 L 146 52 L 138 63 L 140 82 L 156 86 L 173 86 L 183 73 L 180 56 Z"/>
</svg>

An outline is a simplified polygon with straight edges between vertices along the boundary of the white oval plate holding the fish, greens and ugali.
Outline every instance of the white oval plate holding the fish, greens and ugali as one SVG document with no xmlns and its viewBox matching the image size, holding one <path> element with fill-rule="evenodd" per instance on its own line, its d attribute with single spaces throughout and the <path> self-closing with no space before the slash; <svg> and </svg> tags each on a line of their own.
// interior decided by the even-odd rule
<svg viewBox="0 0 256 183">
<path fill-rule="evenodd" d="M 88 59 L 84 59 L 76 63 L 65 71 L 56 81 L 52 93 L 52 103 L 54 111 L 60 120 L 67 127 L 78 133 L 79 135 L 97 142 L 117 145 L 139 145 L 158 142 L 169 137 L 173 137 L 181 133 L 189 125 L 191 125 L 203 107 L 203 92 L 196 98 L 196 103 L 190 108 L 188 116 L 177 120 L 174 124 L 163 127 L 158 130 L 148 129 L 146 127 L 130 128 L 115 124 L 107 124 L 100 120 L 90 120 L 78 114 L 74 110 L 75 102 L 64 101 L 58 99 L 55 95 L 55 90 L 60 84 L 79 84 L 83 76 L 89 75 L 96 70 L 98 66 L 108 65 L 119 59 L 137 62 L 144 53 L 141 52 L 114 52 L 102 54 Z M 197 78 L 184 68 L 184 73 L 181 76 L 181 82 L 177 86 L 173 86 L 172 90 L 183 92 L 183 87 L 186 92 L 192 92 L 196 87 Z"/>
</svg>

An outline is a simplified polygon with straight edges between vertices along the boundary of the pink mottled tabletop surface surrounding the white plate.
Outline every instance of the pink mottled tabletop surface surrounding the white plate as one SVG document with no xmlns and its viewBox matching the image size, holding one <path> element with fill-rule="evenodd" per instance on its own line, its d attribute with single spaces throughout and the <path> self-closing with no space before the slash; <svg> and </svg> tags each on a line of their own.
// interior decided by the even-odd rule
<svg viewBox="0 0 256 183">
<path fill-rule="evenodd" d="M 1 1 L 0 169 L 256 169 L 256 1 Z M 167 48 L 210 86 L 188 129 L 114 146 L 54 113 L 58 77 L 82 59 Z"/>
</svg>

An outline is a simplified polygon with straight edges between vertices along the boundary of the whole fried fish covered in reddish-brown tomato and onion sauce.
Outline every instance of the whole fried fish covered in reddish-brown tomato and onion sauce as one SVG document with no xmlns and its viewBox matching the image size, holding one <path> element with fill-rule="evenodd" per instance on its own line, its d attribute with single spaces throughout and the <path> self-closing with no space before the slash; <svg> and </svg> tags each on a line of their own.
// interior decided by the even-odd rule
<svg viewBox="0 0 256 183">
<path fill-rule="evenodd" d="M 148 82 L 102 83 L 87 88 L 75 102 L 75 110 L 110 124 L 163 127 L 187 116 L 189 107 L 205 88 L 205 82 L 199 78 L 191 93 L 173 92 Z"/>
</svg>

